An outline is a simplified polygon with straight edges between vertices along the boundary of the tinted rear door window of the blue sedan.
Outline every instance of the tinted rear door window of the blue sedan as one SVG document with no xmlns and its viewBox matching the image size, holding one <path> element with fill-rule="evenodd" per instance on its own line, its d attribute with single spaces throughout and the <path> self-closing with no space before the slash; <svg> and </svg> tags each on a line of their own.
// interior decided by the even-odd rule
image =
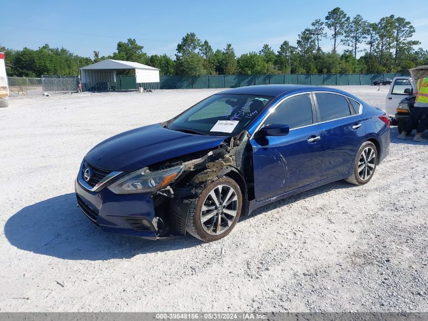
<svg viewBox="0 0 428 321">
<path fill-rule="evenodd" d="M 327 93 L 318 93 L 315 96 L 321 122 L 351 116 L 349 104 L 344 96 Z"/>
</svg>

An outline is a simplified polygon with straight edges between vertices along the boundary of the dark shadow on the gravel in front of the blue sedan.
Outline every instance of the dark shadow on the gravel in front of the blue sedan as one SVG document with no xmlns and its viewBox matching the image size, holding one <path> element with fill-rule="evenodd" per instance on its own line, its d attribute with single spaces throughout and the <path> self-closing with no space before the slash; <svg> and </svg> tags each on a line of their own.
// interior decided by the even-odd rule
<svg viewBox="0 0 428 321">
<path fill-rule="evenodd" d="M 76 207 L 74 193 L 22 208 L 6 222 L 4 232 L 19 249 L 67 260 L 132 258 L 202 243 L 193 237 L 151 241 L 104 233 Z"/>
</svg>

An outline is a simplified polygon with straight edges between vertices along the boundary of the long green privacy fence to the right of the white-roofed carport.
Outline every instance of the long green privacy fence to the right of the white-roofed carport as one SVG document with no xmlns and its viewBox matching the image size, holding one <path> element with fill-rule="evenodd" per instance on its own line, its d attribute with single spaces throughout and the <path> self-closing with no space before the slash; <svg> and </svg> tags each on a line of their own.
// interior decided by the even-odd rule
<svg viewBox="0 0 428 321">
<path fill-rule="evenodd" d="M 288 74 L 288 75 L 216 75 L 216 76 L 161 76 L 161 89 L 236 88 L 252 85 L 372 85 L 382 78 L 409 77 L 410 74 Z"/>
</svg>

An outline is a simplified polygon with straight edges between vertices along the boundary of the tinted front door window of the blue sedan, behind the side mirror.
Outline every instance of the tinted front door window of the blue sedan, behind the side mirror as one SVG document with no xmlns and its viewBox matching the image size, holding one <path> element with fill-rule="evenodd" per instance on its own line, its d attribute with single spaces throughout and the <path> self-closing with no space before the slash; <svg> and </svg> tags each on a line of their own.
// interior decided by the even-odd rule
<svg viewBox="0 0 428 321">
<path fill-rule="evenodd" d="M 291 97 L 282 102 L 264 122 L 264 125 L 271 124 L 288 125 L 290 129 L 312 125 L 312 103 L 309 94 Z"/>
</svg>

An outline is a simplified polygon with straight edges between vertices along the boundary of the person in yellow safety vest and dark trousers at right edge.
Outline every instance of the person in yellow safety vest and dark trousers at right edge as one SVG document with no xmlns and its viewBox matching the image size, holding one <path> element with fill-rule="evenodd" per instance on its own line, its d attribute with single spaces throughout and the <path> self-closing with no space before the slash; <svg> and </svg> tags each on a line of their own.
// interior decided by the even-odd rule
<svg viewBox="0 0 428 321">
<path fill-rule="evenodd" d="M 398 139 L 406 139 L 406 135 L 411 133 L 414 126 L 416 127 L 416 135 L 414 141 L 426 142 L 422 138 L 422 133 L 425 131 L 428 124 L 428 77 L 419 79 L 416 85 L 417 92 L 415 106 L 413 112 L 410 114 L 410 119 L 406 124 L 406 128 L 397 136 Z"/>
</svg>

